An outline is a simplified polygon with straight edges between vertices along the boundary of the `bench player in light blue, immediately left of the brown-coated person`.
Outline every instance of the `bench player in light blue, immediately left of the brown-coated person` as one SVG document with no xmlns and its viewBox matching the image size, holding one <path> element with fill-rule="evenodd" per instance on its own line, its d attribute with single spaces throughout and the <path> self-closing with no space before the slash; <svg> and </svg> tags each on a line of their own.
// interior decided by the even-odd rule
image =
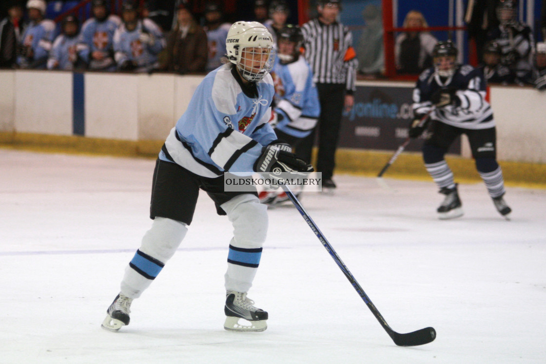
<svg viewBox="0 0 546 364">
<path fill-rule="evenodd" d="M 165 47 L 161 28 L 139 19 L 138 5 L 126 0 L 122 5 L 122 24 L 114 33 L 114 58 L 121 71 L 150 72 L 159 67 L 158 55 Z"/>
</svg>

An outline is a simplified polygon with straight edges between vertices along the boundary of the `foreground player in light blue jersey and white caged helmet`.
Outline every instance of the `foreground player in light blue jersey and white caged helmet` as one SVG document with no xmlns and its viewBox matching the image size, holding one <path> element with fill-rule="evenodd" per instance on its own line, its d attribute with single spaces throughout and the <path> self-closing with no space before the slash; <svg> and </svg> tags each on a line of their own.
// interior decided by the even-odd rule
<svg viewBox="0 0 546 364">
<path fill-rule="evenodd" d="M 228 176 L 223 172 L 260 172 L 272 178 L 277 171 L 299 175 L 312 167 L 289 152 L 290 146 L 276 139 L 268 123 L 274 94 L 269 75 L 274 56 L 271 34 L 258 22 L 236 22 L 229 29 L 226 48 L 230 63 L 200 83 L 156 161 L 152 228 L 126 267 L 120 293 L 102 324 L 106 330 L 129 324 L 132 301 L 149 287 L 185 237 L 200 189 L 215 202 L 217 213 L 227 215 L 233 224 L 224 275 L 224 328 L 267 327 L 268 313 L 247 298 L 268 229 L 267 208 L 259 203 L 256 187 L 224 188 Z"/>
</svg>

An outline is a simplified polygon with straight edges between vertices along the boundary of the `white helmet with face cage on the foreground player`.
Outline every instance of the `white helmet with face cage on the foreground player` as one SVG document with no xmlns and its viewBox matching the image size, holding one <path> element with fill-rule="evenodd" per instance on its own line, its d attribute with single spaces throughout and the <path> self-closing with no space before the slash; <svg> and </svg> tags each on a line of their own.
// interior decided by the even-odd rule
<svg viewBox="0 0 546 364">
<path fill-rule="evenodd" d="M 258 82 L 269 73 L 275 61 L 273 37 L 257 21 L 238 21 L 228 31 L 225 48 L 229 62 L 245 80 Z"/>
</svg>

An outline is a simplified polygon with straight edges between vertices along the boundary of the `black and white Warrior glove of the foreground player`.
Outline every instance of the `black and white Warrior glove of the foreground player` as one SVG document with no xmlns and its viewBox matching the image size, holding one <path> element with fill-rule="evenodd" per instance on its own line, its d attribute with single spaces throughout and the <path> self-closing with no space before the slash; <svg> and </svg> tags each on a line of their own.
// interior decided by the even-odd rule
<svg viewBox="0 0 546 364">
<path fill-rule="evenodd" d="M 270 144 L 262 150 L 262 155 L 254 163 L 254 171 L 266 178 L 278 180 L 282 173 L 289 173 L 290 177 L 304 175 L 312 172 L 313 166 L 296 157 L 294 153 L 287 152 L 287 144 Z M 286 177 L 286 176 L 285 176 Z"/>
</svg>

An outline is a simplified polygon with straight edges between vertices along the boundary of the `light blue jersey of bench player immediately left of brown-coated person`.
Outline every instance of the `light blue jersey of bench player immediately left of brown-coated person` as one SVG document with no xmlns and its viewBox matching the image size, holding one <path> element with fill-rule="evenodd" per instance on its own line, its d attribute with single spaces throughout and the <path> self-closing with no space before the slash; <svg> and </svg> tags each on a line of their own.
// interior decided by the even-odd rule
<svg viewBox="0 0 546 364">
<path fill-rule="evenodd" d="M 114 57 L 118 67 L 126 61 L 143 68 L 152 66 L 164 47 L 163 33 L 150 19 L 139 20 L 130 32 L 122 24 L 114 33 Z"/>
</svg>

